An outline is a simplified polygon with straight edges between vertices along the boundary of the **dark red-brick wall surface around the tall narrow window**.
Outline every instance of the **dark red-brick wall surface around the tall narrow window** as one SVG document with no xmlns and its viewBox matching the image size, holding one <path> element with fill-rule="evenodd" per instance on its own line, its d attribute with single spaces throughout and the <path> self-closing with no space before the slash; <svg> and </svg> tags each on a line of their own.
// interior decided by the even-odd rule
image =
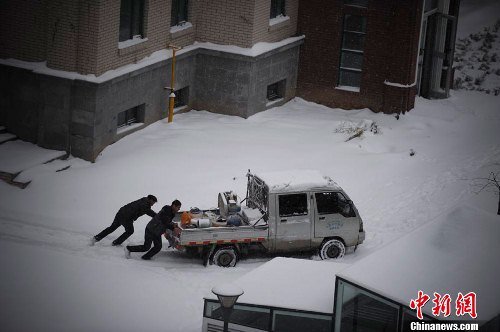
<svg viewBox="0 0 500 332">
<path fill-rule="evenodd" d="M 346 109 L 368 107 L 393 113 L 413 108 L 415 87 L 392 87 L 384 81 L 414 82 L 421 5 L 422 0 L 376 0 L 369 1 L 368 8 L 359 8 L 345 6 L 342 0 L 302 0 L 298 30 L 306 38 L 297 94 Z M 359 92 L 336 89 L 345 14 L 367 18 Z"/>
</svg>

